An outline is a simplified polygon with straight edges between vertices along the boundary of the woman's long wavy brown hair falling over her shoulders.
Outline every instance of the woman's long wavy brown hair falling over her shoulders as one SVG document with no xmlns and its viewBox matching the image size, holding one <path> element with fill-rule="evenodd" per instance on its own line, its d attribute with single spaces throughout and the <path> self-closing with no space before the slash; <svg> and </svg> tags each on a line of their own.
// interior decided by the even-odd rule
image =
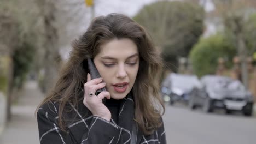
<svg viewBox="0 0 256 144">
<path fill-rule="evenodd" d="M 63 113 L 65 106 L 78 105 L 83 100 L 83 88 L 88 73 L 86 59 L 94 58 L 103 43 L 113 39 L 128 38 L 138 47 L 140 64 L 132 92 L 135 101 L 135 121 L 144 134 L 152 134 L 161 126 L 160 117 L 165 112 L 159 95 L 159 78 L 162 58 L 155 48 L 152 38 L 138 23 L 122 14 L 99 16 L 92 20 L 87 31 L 71 44 L 73 47 L 69 61 L 60 71 L 60 78 L 53 91 L 42 104 L 56 101 L 59 106 L 59 125 L 65 130 Z"/>
</svg>

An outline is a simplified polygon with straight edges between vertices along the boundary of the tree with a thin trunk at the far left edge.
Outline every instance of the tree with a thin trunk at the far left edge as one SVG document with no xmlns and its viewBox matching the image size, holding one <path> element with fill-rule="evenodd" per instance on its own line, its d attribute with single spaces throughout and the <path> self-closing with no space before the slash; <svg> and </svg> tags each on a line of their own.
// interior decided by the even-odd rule
<svg viewBox="0 0 256 144">
<path fill-rule="evenodd" d="M 0 5 L 0 45 L 1 54 L 10 58 L 8 68 L 7 118 L 10 119 L 10 106 L 14 89 L 15 51 L 24 41 L 36 40 L 35 33 L 40 32 L 37 8 L 32 1 L 1 1 Z M 29 8 L 29 9 L 28 9 Z M 38 41 L 34 41 L 39 44 Z M 3 54 L 4 53 L 4 54 Z M 21 68 L 20 68 L 21 69 Z"/>
</svg>

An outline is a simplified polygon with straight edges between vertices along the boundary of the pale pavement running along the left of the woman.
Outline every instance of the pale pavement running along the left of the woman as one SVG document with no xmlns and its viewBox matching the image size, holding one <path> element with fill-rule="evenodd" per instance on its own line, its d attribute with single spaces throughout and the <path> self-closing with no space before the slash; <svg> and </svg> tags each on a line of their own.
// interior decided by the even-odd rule
<svg viewBox="0 0 256 144">
<path fill-rule="evenodd" d="M 28 81 L 19 94 L 18 103 L 12 106 L 12 120 L 7 123 L 2 135 L 1 144 L 39 143 L 37 120 L 34 115 L 36 107 L 43 100 L 37 83 Z"/>
</svg>

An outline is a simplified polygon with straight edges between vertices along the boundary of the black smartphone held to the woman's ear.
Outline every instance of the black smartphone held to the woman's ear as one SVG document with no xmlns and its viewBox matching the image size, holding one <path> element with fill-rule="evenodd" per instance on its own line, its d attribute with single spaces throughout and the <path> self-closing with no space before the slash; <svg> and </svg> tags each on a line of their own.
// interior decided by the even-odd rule
<svg viewBox="0 0 256 144">
<path fill-rule="evenodd" d="M 100 73 L 98 73 L 97 68 L 95 67 L 94 62 L 92 61 L 91 58 L 88 58 L 88 67 L 89 67 L 89 71 L 90 71 L 90 75 L 91 75 L 91 79 L 96 79 L 96 78 L 100 78 L 101 75 Z M 102 81 L 103 82 L 103 81 Z M 102 91 L 106 91 L 106 88 L 103 87 L 101 89 L 98 89 L 95 93 L 95 95 L 100 94 Z M 103 99 L 104 100 L 104 99 Z"/>
</svg>

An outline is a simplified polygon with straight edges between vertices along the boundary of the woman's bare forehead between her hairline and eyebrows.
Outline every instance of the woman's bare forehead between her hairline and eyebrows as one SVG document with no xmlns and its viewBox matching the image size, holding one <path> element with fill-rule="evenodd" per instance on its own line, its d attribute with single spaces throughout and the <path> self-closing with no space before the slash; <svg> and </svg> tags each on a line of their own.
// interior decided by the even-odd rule
<svg viewBox="0 0 256 144">
<path fill-rule="evenodd" d="M 138 53 L 137 45 L 130 39 L 113 39 L 100 46 L 100 52 L 96 56 L 109 56 L 114 58 L 126 58 Z"/>
</svg>

